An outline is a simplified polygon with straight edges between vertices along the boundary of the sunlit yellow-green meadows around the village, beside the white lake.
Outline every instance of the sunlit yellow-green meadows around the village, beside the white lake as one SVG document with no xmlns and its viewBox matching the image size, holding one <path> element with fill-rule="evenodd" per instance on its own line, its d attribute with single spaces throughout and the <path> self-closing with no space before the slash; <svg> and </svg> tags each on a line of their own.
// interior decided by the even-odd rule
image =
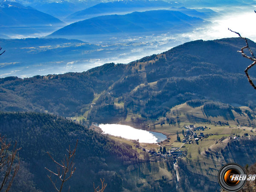
<svg viewBox="0 0 256 192">
<path fill-rule="evenodd" d="M 133 115 L 131 113 L 128 114 L 126 120 L 131 119 L 132 116 Z M 172 147 L 180 147 L 181 145 L 183 145 L 183 143 L 176 142 L 177 141 L 177 132 L 182 141 L 184 138 L 183 134 L 182 134 L 182 130 L 184 130 L 184 131 L 187 130 L 186 128 L 184 128 L 184 126 L 191 125 L 191 124 L 193 124 L 193 123 L 180 122 L 179 126 L 168 125 L 168 124 L 155 125 L 154 131 L 166 134 L 166 136 L 168 138 L 168 140 L 165 140 L 159 144 L 162 146 L 162 148 L 166 147 L 167 150 L 170 150 Z M 253 128 L 239 127 L 237 125 L 221 126 L 221 125 L 212 125 L 209 123 L 202 123 L 202 122 L 194 124 L 194 125 L 196 127 L 207 126 L 207 128 L 204 131 L 199 130 L 199 131 L 195 131 L 195 133 L 200 134 L 201 132 L 203 132 L 204 135 L 208 134 L 209 137 L 201 138 L 201 140 L 199 140 L 198 144 L 196 144 L 195 140 L 193 140 L 193 143 L 185 144 L 183 146 L 183 148 L 180 148 L 180 150 L 187 151 L 187 154 L 189 154 L 189 157 L 187 156 L 186 158 L 189 158 L 190 160 L 198 160 L 199 159 L 199 160 L 203 161 L 204 157 L 201 157 L 200 152 L 204 151 L 205 149 L 208 149 L 212 145 L 215 145 L 215 143 L 218 142 L 218 140 L 220 140 L 220 139 L 227 138 L 227 137 L 235 137 L 236 135 L 237 136 L 239 135 L 241 137 L 245 133 L 250 134 L 250 135 L 252 135 L 252 134 L 256 135 L 256 131 L 251 132 L 251 130 L 253 130 Z M 131 145 L 140 154 L 140 158 L 142 158 L 142 159 L 144 158 L 144 151 L 142 151 L 139 148 L 135 148 L 134 145 L 136 145 L 136 144 L 133 143 L 131 140 L 127 140 L 127 139 L 124 139 L 121 137 L 114 137 L 114 136 L 111 136 L 111 138 L 113 140 L 119 141 L 121 143 L 127 143 L 128 145 Z M 142 146 L 143 148 L 146 148 L 148 150 L 158 151 L 160 148 L 159 144 L 140 143 L 140 146 Z"/>
</svg>

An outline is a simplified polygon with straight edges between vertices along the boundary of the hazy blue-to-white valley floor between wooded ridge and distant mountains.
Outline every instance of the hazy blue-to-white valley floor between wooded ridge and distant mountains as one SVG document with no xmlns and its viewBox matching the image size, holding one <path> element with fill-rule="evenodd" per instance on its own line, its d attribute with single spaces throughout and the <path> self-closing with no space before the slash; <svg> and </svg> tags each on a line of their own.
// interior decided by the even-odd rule
<svg viewBox="0 0 256 192">
<path fill-rule="evenodd" d="M 253 5 L 209 7 L 208 9 L 212 9 L 218 15 L 204 18 L 209 22 L 201 23 L 199 26 L 189 29 L 188 32 L 183 32 L 185 28 L 181 28 L 179 32 L 175 33 L 165 31 L 160 33 L 125 33 L 125 35 L 116 33 L 111 35 L 67 36 L 69 39 L 83 41 L 76 44 L 61 41 L 56 44 L 51 41 L 45 43 L 43 42 L 44 33 L 42 35 L 23 36 L 23 38 L 43 38 L 42 42 L 38 42 L 38 44 L 32 43 L 29 46 L 31 40 L 23 39 L 24 44 L 16 42 L 15 47 L 10 46 L 15 43 L 15 39 L 2 40 L 0 44 L 3 49 L 6 49 L 6 53 L 2 55 L 0 61 L 0 77 L 18 76 L 24 78 L 35 75 L 82 72 L 110 62 L 126 64 L 148 55 L 167 51 L 188 41 L 237 37 L 228 28 L 240 32 L 244 37 L 255 40 L 255 25 L 251 24 L 256 19 L 254 8 Z M 203 10 L 202 7 L 190 9 Z M 58 38 L 58 36 L 56 37 Z M 12 38 L 15 37 L 12 36 Z M 87 44 L 85 42 L 89 43 L 90 46 L 84 47 L 83 44 Z"/>
</svg>

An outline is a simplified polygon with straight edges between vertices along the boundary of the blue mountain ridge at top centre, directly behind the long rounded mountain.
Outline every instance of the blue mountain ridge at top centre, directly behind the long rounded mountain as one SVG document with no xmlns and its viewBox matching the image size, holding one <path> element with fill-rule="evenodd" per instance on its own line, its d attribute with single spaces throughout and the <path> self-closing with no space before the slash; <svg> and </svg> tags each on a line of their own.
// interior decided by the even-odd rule
<svg viewBox="0 0 256 192">
<path fill-rule="evenodd" d="M 109 3 L 99 3 L 90 8 L 75 12 L 66 18 L 67 21 L 79 21 L 92 17 L 113 14 L 127 14 L 131 12 L 148 11 L 152 9 L 166 9 L 179 5 L 175 2 L 165 2 L 161 0 L 122 0 Z"/>
</svg>

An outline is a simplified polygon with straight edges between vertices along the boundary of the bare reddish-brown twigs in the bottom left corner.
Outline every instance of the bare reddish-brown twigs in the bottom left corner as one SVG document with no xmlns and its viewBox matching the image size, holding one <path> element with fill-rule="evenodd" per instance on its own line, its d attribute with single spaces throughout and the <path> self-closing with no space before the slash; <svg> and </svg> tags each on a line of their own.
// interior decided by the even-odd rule
<svg viewBox="0 0 256 192">
<path fill-rule="evenodd" d="M 15 142 L 12 151 L 9 151 L 11 144 L 7 144 L 4 137 L 1 137 L 1 135 L 0 145 L 0 172 L 4 172 L 3 181 L 1 181 L 2 183 L 0 182 L 0 191 L 7 185 L 5 192 L 8 192 L 11 189 L 14 177 L 20 169 L 20 157 L 18 154 L 20 148 L 17 148 L 17 142 Z M 14 161 L 16 156 L 18 157 L 18 163 L 15 165 Z"/>
</svg>

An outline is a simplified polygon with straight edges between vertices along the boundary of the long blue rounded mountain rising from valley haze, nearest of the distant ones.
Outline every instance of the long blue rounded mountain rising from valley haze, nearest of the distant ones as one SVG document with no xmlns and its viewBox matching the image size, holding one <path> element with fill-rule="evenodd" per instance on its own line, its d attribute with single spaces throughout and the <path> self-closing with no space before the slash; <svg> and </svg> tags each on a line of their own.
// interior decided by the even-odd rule
<svg viewBox="0 0 256 192">
<path fill-rule="evenodd" d="M 48 37 L 72 37 L 72 35 L 142 34 L 154 32 L 186 32 L 207 22 L 189 17 L 181 12 L 154 10 L 133 12 L 127 15 L 93 17 L 65 26 Z"/>
</svg>

